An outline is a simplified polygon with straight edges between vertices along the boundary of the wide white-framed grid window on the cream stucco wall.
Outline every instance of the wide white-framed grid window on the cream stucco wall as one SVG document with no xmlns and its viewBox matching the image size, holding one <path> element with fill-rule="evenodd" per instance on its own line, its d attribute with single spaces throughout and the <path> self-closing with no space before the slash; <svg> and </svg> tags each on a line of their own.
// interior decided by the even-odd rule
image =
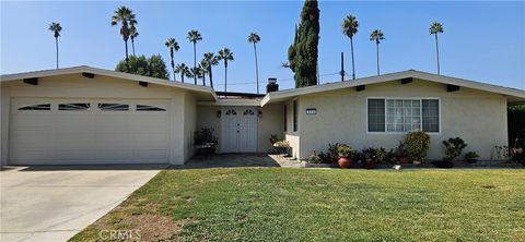
<svg viewBox="0 0 525 242">
<path fill-rule="evenodd" d="M 369 99 L 369 132 L 440 132 L 438 99 Z"/>
</svg>

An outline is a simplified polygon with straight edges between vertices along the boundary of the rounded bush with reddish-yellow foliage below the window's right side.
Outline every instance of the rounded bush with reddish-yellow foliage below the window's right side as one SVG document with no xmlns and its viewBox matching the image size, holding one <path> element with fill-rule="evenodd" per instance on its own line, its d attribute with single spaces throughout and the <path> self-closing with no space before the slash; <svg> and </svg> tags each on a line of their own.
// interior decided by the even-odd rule
<svg viewBox="0 0 525 242">
<path fill-rule="evenodd" d="M 405 136 L 405 148 L 412 161 L 424 162 L 430 146 L 430 136 L 422 131 L 410 132 Z"/>
</svg>

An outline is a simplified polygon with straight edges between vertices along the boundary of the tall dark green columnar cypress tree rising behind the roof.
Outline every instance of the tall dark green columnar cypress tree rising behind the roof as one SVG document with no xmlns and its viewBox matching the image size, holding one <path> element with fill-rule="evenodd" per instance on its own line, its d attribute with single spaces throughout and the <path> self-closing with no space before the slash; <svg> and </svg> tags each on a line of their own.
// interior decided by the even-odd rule
<svg viewBox="0 0 525 242">
<path fill-rule="evenodd" d="M 306 0 L 301 23 L 295 26 L 293 44 L 288 49 L 295 87 L 317 85 L 317 45 L 319 41 L 319 9 L 316 0 Z"/>
</svg>

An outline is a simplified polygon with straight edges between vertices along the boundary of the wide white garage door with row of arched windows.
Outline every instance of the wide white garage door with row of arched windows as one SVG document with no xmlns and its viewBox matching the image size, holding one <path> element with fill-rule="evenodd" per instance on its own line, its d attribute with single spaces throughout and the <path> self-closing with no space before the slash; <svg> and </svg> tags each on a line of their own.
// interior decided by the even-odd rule
<svg viewBox="0 0 525 242">
<path fill-rule="evenodd" d="M 14 98 L 10 164 L 166 164 L 168 102 Z"/>
</svg>

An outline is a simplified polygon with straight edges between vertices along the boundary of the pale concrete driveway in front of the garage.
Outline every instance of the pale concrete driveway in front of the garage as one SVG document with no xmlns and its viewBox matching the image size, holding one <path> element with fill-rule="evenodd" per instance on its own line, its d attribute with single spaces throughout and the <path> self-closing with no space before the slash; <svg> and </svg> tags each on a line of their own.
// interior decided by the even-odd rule
<svg viewBox="0 0 525 242">
<path fill-rule="evenodd" d="M 66 241 L 166 166 L 30 167 L 0 172 L 0 241 Z"/>
</svg>

